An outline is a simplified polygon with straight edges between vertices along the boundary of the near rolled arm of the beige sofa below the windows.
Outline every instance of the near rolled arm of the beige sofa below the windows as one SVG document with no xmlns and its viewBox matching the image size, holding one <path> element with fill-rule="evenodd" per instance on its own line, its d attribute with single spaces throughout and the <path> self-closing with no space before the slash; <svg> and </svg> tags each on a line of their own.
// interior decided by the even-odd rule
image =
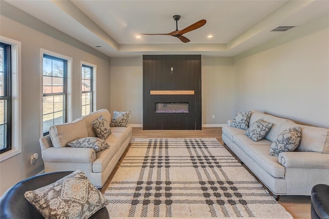
<svg viewBox="0 0 329 219">
<path fill-rule="evenodd" d="M 42 159 L 47 162 L 92 163 L 96 153 L 91 148 L 48 148 L 41 151 Z"/>
</svg>

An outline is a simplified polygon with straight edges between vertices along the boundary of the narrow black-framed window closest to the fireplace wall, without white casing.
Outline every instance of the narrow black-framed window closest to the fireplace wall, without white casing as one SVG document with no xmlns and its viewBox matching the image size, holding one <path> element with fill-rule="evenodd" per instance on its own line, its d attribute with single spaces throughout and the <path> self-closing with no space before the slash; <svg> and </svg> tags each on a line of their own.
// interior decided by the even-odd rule
<svg viewBox="0 0 329 219">
<path fill-rule="evenodd" d="M 81 77 L 81 115 L 88 115 L 93 112 L 93 67 L 88 65 L 82 65 L 82 77 Z"/>
</svg>

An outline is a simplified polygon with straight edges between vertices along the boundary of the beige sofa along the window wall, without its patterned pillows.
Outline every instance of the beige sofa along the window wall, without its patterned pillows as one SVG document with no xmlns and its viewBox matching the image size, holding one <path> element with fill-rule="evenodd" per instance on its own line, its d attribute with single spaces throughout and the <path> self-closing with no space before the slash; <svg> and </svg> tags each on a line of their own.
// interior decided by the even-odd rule
<svg viewBox="0 0 329 219">
<path fill-rule="evenodd" d="M 50 135 L 40 138 L 46 173 L 80 169 L 94 186 L 100 188 L 104 185 L 132 139 L 132 126 L 111 127 L 112 134 L 105 139 L 110 147 L 97 153 L 90 148 L 67 146 L 67 143 L 79 138 L 96 137 L 92 122 L 101 115 L 111 123 L 111 114 L 107 109 L 101 109 L 73 122 L 52 127 L 52 139 Z"/>
</svg>

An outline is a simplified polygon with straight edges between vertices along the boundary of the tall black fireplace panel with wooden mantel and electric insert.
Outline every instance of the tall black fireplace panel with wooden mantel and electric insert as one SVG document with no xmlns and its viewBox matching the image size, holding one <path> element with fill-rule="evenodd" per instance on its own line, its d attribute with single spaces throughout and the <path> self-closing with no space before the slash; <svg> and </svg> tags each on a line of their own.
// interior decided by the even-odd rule
<svg viewBox="0 0 329 219">
<path fill-rule="evenodd" d="M 143 55 L 143 130 L 201 130 L 201 55 Z"/>
</svg>

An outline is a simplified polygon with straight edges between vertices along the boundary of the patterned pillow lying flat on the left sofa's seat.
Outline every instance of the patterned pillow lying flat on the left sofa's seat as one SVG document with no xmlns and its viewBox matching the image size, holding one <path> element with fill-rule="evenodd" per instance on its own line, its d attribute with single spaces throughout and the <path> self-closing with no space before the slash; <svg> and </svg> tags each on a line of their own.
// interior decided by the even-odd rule
<svg viewBox="0 0 329 219">
<path fill-rule="evenodd" d="M 92 148 L 96 152 L 102 151 L 109 147 L 106 141 L 96 137 L 80 138 L 68 143 L 68 145 L 72 148 Z"/>
</svg>

